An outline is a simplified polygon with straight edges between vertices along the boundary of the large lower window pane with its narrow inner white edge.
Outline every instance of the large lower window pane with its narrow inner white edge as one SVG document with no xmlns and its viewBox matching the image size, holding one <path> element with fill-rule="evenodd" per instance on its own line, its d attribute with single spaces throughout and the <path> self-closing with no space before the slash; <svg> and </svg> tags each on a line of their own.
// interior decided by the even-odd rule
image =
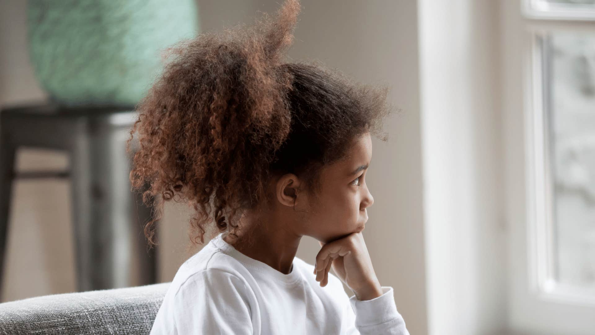
<svg viewBox="0 0 595 335">
<path fill-rule="evenodd" d="M 595 302 L 595 35 L 538 33 L 533 47 L 537 286 Z"/>
</svg>

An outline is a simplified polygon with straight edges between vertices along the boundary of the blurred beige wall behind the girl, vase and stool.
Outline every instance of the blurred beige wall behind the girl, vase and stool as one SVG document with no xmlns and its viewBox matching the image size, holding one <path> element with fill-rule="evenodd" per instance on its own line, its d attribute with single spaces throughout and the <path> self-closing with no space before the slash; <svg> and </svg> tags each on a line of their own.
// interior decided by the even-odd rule
<svg viewBox="0 0 595 335">
<path fill-rule="evenodd" d="M 200 0 L 202 29 L 249 23 L 256 10 L 272 13 L 273 0 Z M 0 4 L 0 105 L 45 95 L 26 53 L 23 1 Z M 412 334 L 427 333 L 422 220 L 417 2 L 303 0 L 290 57 L 315 58 L 364 82 L 392 87 L 402 112 L 386 120 L 387 143 L 374 141 L 368 185 L 374 195 L 364 232 L 381 284 L 393 286 Z M 23 150 L 22 169 L 66 166 L 60 153 Z M 73 243 L 67 181 L 17 181 L 11 216 L 4 301 L 74 290 Z M 170 281 L 186 253 L 188 212 L 168 206 L 159 252 L 161 281 Z M 304 239 L 298 255 L 312 263 L 318 246 Z M 193 250 L 196 251 L 196 250 Z"/>
</svg>

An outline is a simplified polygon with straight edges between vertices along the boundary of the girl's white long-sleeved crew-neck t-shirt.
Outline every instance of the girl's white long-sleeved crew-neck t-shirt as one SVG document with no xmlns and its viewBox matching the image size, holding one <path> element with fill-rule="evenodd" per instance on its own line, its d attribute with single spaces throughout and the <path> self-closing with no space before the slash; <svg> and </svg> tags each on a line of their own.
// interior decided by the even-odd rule
<svg viewBox="0 0 595 335">
<path fill-rule="evenodd" d="M 409 334 L 393 288 L 372 300 L 348 297 L 328 274 L 294 258 L 283 274 L 249 258 L 219 234 L 178 269 L 155 318 L 161 334 Z"/>
</svg>

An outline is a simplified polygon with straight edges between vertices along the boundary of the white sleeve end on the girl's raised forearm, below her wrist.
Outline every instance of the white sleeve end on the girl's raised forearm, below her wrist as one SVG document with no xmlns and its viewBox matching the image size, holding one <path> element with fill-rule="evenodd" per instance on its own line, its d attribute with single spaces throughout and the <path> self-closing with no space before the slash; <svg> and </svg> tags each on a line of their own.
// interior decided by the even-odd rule
<svg viewBox="0 0 595 335">
<path fill-rule="evenodd" d="M 349 298 L 349 334 L 394 334 L 409 335 L 405 320 L 397 312 L 393 288 L 382 286 L 383 294 L 371 300 L 358 300 L 355 295 Z"/>
</svg>

